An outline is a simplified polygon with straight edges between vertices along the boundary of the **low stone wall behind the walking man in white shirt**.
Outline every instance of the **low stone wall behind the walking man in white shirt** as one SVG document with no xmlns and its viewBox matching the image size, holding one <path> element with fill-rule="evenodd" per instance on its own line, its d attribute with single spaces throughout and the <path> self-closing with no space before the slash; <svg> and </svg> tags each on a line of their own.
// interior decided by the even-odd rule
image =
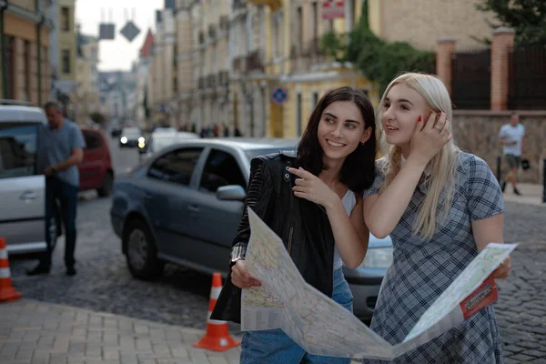
<svg viewBox="0 0 546 364">
<path fill-rule="evenodd" d="M 541 183 L 542 159 L 546 158 L 546 111 L 521 111 L 521 124 L 525 126 L 527 152 L 531 168 L 521 171 L 521 182 Z M 499 130 L 508 123 L 509 111 L 489 110 L 457 110 L 453 115 L 453 137 L 457 145 L 464 151 L 483 158 L 493 172 L 497 170 L 497 157 L 502 155 L 499 143 Z M 507 167 L 502 160 L 502 173 L 507 173 Z"/>
</svg>

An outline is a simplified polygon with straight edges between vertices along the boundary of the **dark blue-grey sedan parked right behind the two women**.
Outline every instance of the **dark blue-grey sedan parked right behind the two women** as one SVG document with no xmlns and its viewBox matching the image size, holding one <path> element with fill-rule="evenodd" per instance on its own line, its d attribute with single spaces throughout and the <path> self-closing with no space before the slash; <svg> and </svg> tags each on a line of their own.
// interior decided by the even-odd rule
<svg viewBox="0 0 546 364">
<path fill-rule="evenodd" d="M 215 138 L 167 147 L 114 183 L 110 217 L 136 278 L 161 275 L 164 262 L 227 275 L 253 157 L 294 149 L 297 140 Z M 359 268 L 344 267 L 354 312 L 370 319 L 392 259 L 390 238 L 370 237 Z"/>
</svg>

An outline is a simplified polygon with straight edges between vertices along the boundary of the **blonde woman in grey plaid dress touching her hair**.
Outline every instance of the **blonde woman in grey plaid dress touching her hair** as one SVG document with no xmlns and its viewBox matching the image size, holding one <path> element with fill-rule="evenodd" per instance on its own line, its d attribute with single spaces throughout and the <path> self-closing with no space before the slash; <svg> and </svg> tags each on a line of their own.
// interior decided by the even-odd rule
<svg viewBox="0 0 546 364">
<path fill-rule="evenodd" d="M 503 242 L 501 188 L 482 159 L 455 146 L 450 119 L 450 96 L 436 76 L 399 76 L 379 104 L 389 151 L 364 193 L 364 216 L 373 235 L 393 242 L 371 322 L 391 344 L 406 337 L 481 249 Z M 507 258 L 492 277 L 508 277 L 510 265 Z M 483 308 L 394 362 L 501 363 L 494 309 Z"/>
</svg>

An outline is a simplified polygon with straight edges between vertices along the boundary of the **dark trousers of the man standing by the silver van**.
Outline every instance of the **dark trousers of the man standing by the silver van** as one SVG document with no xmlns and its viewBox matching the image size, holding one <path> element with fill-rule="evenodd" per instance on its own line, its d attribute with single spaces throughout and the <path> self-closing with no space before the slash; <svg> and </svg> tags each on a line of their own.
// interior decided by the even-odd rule
<svg viewBox="0 0 546 364">
<path fill-rule="evenodd" d="M 65 264 L 66 268 L 74 268 L 76 262 L 74 251 L 76 250 L 76 209 L 77 209 L 77 186 L 72 186 L 57 177 L 45 179 L 45 242 L 47 249 L 40 265 L 45 268 L 51 267 L 51 255 L 55 248 L 55 230 L 59 230 L 58 224 L 65 227 Z M 52 229 L 52 224 L 57 225 Z"/>
</svg>

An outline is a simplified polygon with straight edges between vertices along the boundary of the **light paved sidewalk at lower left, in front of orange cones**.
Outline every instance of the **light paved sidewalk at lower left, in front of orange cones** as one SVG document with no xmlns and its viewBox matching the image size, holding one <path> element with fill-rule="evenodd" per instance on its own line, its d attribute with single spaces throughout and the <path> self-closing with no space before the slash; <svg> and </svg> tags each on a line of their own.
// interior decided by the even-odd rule
<svg viewBox="0 0 546 364">
<path fill-rule="evenodd" d="M 204 331 L 22 299 L 0 303 L 2 364 L 232 364 L 192 347 Z M 239 339 L 239 338 L 237 338 Z"/>
</svg>

